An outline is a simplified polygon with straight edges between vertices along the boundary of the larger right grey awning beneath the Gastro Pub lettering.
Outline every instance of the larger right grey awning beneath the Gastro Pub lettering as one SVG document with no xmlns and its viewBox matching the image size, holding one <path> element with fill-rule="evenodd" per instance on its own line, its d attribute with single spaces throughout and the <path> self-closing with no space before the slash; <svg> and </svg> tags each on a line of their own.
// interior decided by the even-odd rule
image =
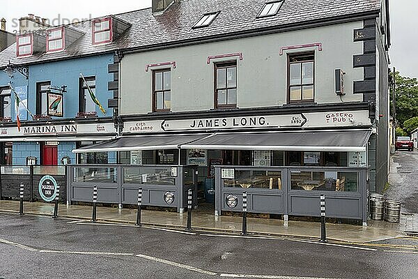
<svg viewBox="0 0 418 279">
<path fill-rule="evenodd" d="M 366 151 L 371 130 L 219 133 L 183 144 L 182 149 Z"/>
</svg>

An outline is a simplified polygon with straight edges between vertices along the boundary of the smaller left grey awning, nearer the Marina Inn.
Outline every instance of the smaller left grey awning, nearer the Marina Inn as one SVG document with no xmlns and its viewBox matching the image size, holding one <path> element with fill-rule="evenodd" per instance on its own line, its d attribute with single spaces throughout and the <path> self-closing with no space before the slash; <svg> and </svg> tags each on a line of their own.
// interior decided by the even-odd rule
<svg viewBox="0 0 418 279">
<path fill-rule="evenodd" d="M 141 137 L 120 137 L 108 142 L 100 142 L 91 146 L 75 149 L 73 153 L 105 152 L 105 151 L 134 151 L 155 149 L 178 149 L 180 145 L 201 140 L 208 135 L 162 135 Z"/>
</svg>

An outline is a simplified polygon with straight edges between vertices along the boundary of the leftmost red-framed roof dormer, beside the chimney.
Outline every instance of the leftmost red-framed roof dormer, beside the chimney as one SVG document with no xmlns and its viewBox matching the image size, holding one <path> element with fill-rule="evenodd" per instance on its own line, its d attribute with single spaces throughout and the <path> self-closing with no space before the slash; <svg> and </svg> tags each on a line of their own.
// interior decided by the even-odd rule
<svg viewBox="0 0 418 279">
<path fill-rule="evenodd" d="M 45 52 L 45 37 L 40 33 L 26 33 L 16 36 L 17 57 L 31 56 Z"/>
</svg>

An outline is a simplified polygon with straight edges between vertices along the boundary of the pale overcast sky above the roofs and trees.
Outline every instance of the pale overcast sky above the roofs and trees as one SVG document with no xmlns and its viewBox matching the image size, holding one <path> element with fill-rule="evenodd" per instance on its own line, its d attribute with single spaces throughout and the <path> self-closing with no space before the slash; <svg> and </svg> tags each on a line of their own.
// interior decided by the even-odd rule
<svg viewBox="0 0 418 279">
<path fill-rule="evenodd" d="M 392 28 L 392 47 L 389 53 L 392 64 L 390 67 L 396 67 L 401 75 L 418 77 L 418 56 L 413 51 L 415 47 L 418 47 L 418 1 L 389 1 L 391 2 L 390 20 Z M 61 19 L 60 22 L 62 23 L 63 19 L 82 20 L 150 6 L 151 0 L 36 0 L 24 1 L 24 3 L 15 0 L 1 0 L 0 17 L 6 17 L 7 29 L 13 31 L 17 29 L 15 26 L 17 19 L 26 16 L 28 13 L 45 17 L 56 25 L 55 22 L 58 22 L 58 18 Z"/>
</svg>

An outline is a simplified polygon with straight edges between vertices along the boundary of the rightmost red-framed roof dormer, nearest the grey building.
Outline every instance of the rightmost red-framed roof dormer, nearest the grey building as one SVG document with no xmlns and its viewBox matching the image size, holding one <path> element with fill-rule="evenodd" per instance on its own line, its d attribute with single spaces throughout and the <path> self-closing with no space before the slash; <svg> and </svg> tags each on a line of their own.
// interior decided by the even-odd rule
<svg viewBox="0 0 418 279">
<path fill-rule="evenodd" d="M 111 43 L 121 36 L 130 26 L 130 23 L 113 15 L 92 20 L 92 43 L 93 45 Z"/>
</svg>

